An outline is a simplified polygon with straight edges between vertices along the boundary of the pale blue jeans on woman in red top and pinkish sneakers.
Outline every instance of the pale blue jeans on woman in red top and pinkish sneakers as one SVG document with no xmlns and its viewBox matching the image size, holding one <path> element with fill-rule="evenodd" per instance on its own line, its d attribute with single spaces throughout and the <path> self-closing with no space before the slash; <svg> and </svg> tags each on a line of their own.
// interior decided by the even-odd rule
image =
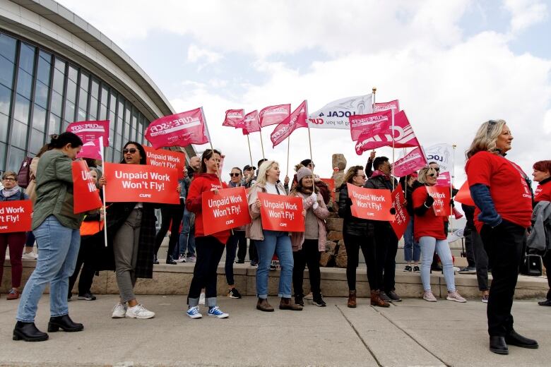
<svg viewBox="0 0 551 367">
<path fill-rule="evenodd" d="M 419 239 L 419 244 L 421 246 L 422 257 L 421 281 L 423 283 L 423 289 L 425 289 L 425 291 L 430 290 L 430 265 L 432 264 L 432 255 L 434 255 L 434 250 L 436 250 L 440 261 L 442 261 L 444 279 L 446 279 L 448 291 L 455 291 L 456 284 L 454 278 L 454 260 L 451 258 L 448 240 L 423 236 Z"/>
</svg>

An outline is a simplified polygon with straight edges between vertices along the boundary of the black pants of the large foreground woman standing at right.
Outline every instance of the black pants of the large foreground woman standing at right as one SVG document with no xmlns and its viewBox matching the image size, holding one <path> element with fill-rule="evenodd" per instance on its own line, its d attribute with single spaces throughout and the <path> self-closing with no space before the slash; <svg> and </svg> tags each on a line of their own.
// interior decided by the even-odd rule
<svg viewBox="0 0 551 367">
<path fill-rule="evenodd" d="M 487 306 L 490 336 L 505 337 L 513 330 L 511 308 L 525 232 L 523 227 L 506 220 L 495 228 L 485 224 L 480 231 L 494 278 Z"/>
</svg>

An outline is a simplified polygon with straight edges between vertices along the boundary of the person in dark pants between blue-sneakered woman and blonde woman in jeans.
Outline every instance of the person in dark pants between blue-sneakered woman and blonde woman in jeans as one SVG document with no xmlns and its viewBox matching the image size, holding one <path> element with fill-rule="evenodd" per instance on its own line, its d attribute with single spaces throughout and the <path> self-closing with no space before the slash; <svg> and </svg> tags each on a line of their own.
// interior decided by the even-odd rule
<svg viewBox="0 0 551 367">
<path fill-rule="evenodd" d="M 230 172 L 229 187 L 240 187 L 242 185 L 242 172 L 239 167 L 233 167 Z M 235 253 L 239 246 L 239 253 L 237 255 L 237 263 L 244 263 L 245 255 L 247 254 L 247 238 L 245 238 L 245 226 L 232 229 L 230 238 L 226 242 L 226 260 L 225 260 L 225 272 L 227 281 L 227 296 L 233 299 L 240 299 L 241 294 L 235 289 L 235 281 L 233 277 L 233 262 L 235 260 Z M 241 260 L 243 259 L 243 260 Z"/>
</svg>

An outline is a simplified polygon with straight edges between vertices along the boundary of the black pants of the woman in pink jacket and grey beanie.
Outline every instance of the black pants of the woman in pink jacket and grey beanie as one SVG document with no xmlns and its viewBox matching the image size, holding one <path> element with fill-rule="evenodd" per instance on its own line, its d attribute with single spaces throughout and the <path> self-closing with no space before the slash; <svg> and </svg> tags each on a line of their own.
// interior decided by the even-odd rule
<svg viewBox="0 0 551 367">
<path fill-rule="evenodd" d="M 302 282 L 304 279 L 304 268 L 308 265 L 308 274 L 310 276 L 310 290 L 314 296 L 321 294 L 319 272 L 319 241 L 317 239 L 305 239 L 302 243 L 302 248 L 299 251 L 293 251 L 292 258 L 295 260 L 295 265 L 292 268 L 292 287 L 295 290 L 295 295 L 304 296 Z"/>
</svg>

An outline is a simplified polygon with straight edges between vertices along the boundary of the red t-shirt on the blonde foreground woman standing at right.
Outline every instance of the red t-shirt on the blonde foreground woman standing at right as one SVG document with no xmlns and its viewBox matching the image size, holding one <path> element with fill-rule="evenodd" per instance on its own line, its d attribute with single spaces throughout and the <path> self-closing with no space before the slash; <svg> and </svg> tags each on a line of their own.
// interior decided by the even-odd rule
<svg viewBox="0 0 551 367">
<path fill-rule="evenodd" d="M 519 226 L 530 226 L 532 193 L 519 166 L 501 155 L 478 152 L 467 161 L 465 170 L 469 186 L 482 183 L 490 188 L 497 214 Z M 480 209 L 476 207 L 475 226 L 480 231 L 483 223 L 478 221 L 478 215 Z"/>
</svg>

